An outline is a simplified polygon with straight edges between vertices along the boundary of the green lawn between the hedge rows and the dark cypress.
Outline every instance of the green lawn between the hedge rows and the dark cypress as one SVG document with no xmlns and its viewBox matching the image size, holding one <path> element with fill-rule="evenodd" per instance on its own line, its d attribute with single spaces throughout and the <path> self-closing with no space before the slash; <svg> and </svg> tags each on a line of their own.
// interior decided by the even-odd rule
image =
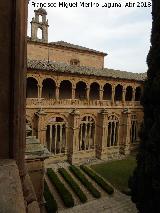
<svg viewBox="0 0 160 213">
<path fill-rule="evenodd" d="M 92 165 L 91 168 L 108 180 L 115 188 L 121 192 L 127 192 L 128 179 L 132 175 L 135 166 L 135 157 L 129 156 L 123 160 Z"/>
</svg>

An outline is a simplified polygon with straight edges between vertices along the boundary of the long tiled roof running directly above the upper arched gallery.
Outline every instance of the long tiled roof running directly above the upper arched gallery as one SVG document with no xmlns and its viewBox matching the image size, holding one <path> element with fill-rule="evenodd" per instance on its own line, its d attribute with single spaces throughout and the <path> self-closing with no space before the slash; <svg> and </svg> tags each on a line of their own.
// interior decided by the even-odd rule
<svg viewBox="0 0 160 213">
<path fill-rule="evenodd" d="M 28 60 L 28 68 L 36 70 L 50 70 L 52 72 L 65 72 L 73 74 L 93 75 L 102 77 L 111 77 L 116 79 L 128 79 L 136 81 L 144 81 L 147 77 L 146 73 L 132 73 L 113 69 L 96 69 L 90 67 L 82 67 L 75 65 L 67 65 L 53 61 Z"/>
</svg>

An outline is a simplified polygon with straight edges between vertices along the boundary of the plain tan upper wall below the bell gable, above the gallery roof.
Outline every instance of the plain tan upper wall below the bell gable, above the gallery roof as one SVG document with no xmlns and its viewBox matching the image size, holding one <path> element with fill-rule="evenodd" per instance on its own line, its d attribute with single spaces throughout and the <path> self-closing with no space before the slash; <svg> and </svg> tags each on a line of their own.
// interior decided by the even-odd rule
<svg viewBox="0 0 160 213">
<path fill-rule="evenodd" d="M 31 41 L 28 41 L 27 51 L 29 59 L 48 60 L 49 58 L 50 61 L 64 62 L 66 64 L 70 64 L 72 59 L 77 59 L 80 61 L 80 66 L 95 67 L 97 69 L 104 67 L 104 56 L 101 54 Z"/>
</svg>

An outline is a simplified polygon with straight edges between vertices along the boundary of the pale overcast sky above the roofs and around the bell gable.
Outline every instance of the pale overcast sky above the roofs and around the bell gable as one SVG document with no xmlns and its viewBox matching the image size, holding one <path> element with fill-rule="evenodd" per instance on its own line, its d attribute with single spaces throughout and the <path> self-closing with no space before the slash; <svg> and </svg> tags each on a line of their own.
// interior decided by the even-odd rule
<svg viewBox="0 0 160 213">
<path fill-rule="evenodd" d="M 62 8 L 59 7 L 59 2 L 62 1 L 30 0 L 29 36 L 30 21 L 34 16 L 34 10 L 38 9 L 38 5 L 36 7 L 32 5 L 33 2 L 56 3 L 55 8 L 44 8 L 48 13 L 49 42 L 63 40 L 103 51 L 108 54 L 105 57 L 107 68 L 130 72 L 147 71 L 146 56 L 150 47 L 151 7 L 137 7 L 135 0 L 130 0 L 135 3 L 132 8 L 125 7 L 127 0 L 66 0 L 66 2 L 77 2 L 78 7 Z M 80 2 L 99 3 L 99 7 L 94 5 L 83 8 Z M 121 3 L 122 7 L 102 7 L 105 2 Z"/>
</svg>

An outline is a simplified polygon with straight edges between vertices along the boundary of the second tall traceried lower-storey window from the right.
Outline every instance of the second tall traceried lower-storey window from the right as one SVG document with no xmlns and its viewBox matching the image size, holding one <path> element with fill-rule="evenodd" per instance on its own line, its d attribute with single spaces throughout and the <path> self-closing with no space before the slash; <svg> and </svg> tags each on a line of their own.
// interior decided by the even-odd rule
<svg viewBox="0 0 160 213">
<path fill-rule="evenodd" d="M 118 118 L 115 115 L 111 115 L 108 119 L 107 147 L 118 145 L 118 128 Z"/>
</svg>

